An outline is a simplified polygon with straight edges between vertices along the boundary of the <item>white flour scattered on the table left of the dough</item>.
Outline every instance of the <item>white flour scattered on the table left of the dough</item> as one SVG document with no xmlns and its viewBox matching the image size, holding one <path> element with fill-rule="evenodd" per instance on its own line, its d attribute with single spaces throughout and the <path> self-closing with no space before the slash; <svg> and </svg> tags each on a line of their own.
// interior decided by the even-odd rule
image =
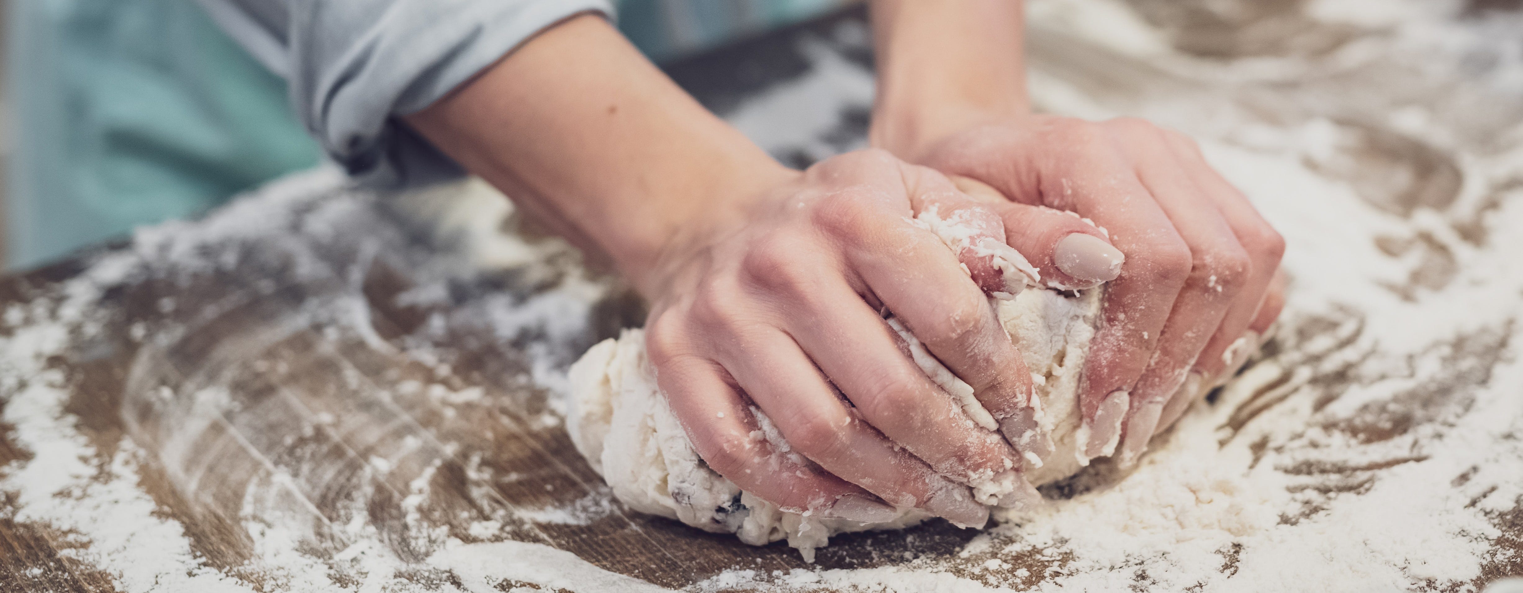
<svg viewBox="0 0 1523 593">
<path fill-rule="evenodd" d="M 12 304 L 3 312 L 12 328 L 0 338 L 0 421 L 11 426 L 8 436 L 30 452 L 32 458 L 0 468 L 0 493 L 14 499 L 0 509 L 20 525 L 41 525 L 69 534 L 69 541 L 78 547 L 61 553 L 73 557 L 84 566 L 110 575 L 114 585 L 128 593 L 221 593 L 221 591 L 323 591 L 323 590 L 387 590 L 425 591 L 437 590 L 439 584 L 416 576 L 417 569 L 399 558 L 382 534 L 364 522 L 364 509 L 352 512 L 359 522 L 332 525 L 332 532 L 344 543 L 332 557 L 312 555 L 311 514 L 302 506 L 292 476 L 276 468 L 271 488 L 248 488 L 242 508 L 242 528 L 253 543 L 253 558 L 238 567 L 238 575 L 254 575 L 253 581 L 212 567 L 192 549 L 184 528 L 164 517 L 152 497 L 142 488 L 139 464 L 146 461 L 134 441 L 122 438 L 116 453 L 104 456 L 90 439 L 81 433 L 78 418 L 64 411 L 73 386 L 69 377 L 50 360 L 67 356 L 70 348 L 87 342 L 101 331 L 102 318 L 97 304 L 114 286 L 154 274 L 171 277 L 210 274 L 233 269 L 236 257 L 207 251 L 210 245 L 236 245 L 241 240 L 271 240 L 292 233 L 291 225 L 305 237 L 334 233 L 338 225 L 352 217 L 361 198 L 347 195 L 346 181 L 332 169 L 320 169 L 294 175 L 265 187 L 257 195 L 235 201 L 200 222 L 171 222 L 139 230 L 134 243 L 126 251 L 97 257 L 88 269 L 64 281 L 40 298 Z M 302 213 L 302 216 L 297 216 Z M 323 258 L 303 251 L 303 242 L 285 242 L 297 277 L 321 278 L 332 271 L 323 269 Z M 236 254 L 236 249 L 228 249 Z M 533 260 L 547 268 L 545 258 L 559 249 L 539 251 Z M 521 263 L 521 262 L 519 262 Z M 545 342 L 576 344 L 574 338 L 585 333 L 588 310 L 602 298 L 606 286 L 580 274 L 565 275 L 560 289 L 544 290 L 524 303 L 484 300 L 477 303 L 481 322 L 492 327 L 504 341 L 519 339 L 533 331 Z M 358 287 L 356 287 L 358 289 Z M 425 286 L 416 289 L 410 304 L 426 303 L 428 295 L 439 298 L 439 290 Z M 160 303 L 160 309 L 166 309 Z M 215 309 L 215 307 L 213 307 Z M 362 309 L 362 303 L 361 303 Z M 297 319 L 314 322 L 329 319 L 341 327 L 350 327 L 362 335 L 372 330 L 370 321 L 346 316 L 343 310 L 297 312 Z M 175 328 L 160 331 L 174 333 Z M 373 331 L 373 330 L 372 330 Z M 149 339 L 146 331 L 134 331 L 136 339 Z M 381 342 L 379 338 L 370 342 Z M 551 347 L 530 348 L 532 374 L 554 385 L 564 380 L 565 360 L 573 353 L 556 351 Z M 417 354 L 425 363 L 448 371 L 448 365 L 433 360 L 428 351 Z M 446 404 L 480 401 L 484 394 L 480 386 L 460 389 L 443 385 L 399 385 L 398 389 L 426 394 Z M 174 394 L 163 394 L 174 397 Z M 206 401 L 225 400 L 225 394 L 204 392 L 196 395 Z M 330 414 L 315 415 L 318 423 L 335 423 Z M 203 420 L 204 421 L 204 420 Z M 553 426 L 553 424 L 551 424 Z M 417 442 L 413 442 L 417 447 Z M 181 453 L 183 455 L 183 453 Z M 372 470 L 390 471 L 390 461 L 372 456 Z M 608 573 L 571 553 L 536 543 L 496 541 L 460 543 L 426 525 L 417 514 L 428 493 L 433 471 L 425 471 L 413 482 L 411 493 L 402 500 L 408 534 L 419 534 L 422 544 L 439 541 L 440 549 L 429 564 L 452 570 L 469 591 L 496 590 L 500 584 L 518 588 L 544 590 L 565 587 L 583 590 L 663 590 L 643 581 Z M 585 525 L 615 512 L 606 493 L 594 493 L 565 508 L 521 509 L 521 518 L 538 523 Z M 492 523 L 492 522 L 483 522 Z M 480 537 L 500 537 L 501 522 L 495 528 L 483 526 Z M 475 526 L 474 526 L 475 528 Z M 475 529 L 474 529 L 475 531 Z M 335 575 L 346 581 L 335 581 Z M 347 584 L 343 584 L 347 582 Z"/>
</svg>

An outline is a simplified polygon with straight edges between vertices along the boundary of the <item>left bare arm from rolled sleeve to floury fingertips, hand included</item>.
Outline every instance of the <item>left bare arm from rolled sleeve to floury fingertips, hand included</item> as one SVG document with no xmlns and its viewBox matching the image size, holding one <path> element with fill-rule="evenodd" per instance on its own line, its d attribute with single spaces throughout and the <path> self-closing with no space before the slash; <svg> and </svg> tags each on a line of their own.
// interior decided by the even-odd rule
<svg viewBox="0 0 1523 593">
<path fill-rule="evenodd" d="M 987 503 L 1036 496 L 1010 490 L 1023 485 L 1016 450 L 970 423 L 880 315 L 975 377 L 996 414 L 1030 404 L 982 289 L 1002 284 L 964 265 L 996 271 L 911 220 L 935 205 L 1004 236 L 941 173 L 883 151 L 786 169 L 595 17 L 545 30 L 407 122 L 650 300 L 656 382 L 699 455 L 742 488 L 797 511 L 870 522 L 918 506 L 956 525 L 987 517 L 969 485 L 1002 485 Z M 818 465 L 751 438 L 752 411 Z"/>
</svg>

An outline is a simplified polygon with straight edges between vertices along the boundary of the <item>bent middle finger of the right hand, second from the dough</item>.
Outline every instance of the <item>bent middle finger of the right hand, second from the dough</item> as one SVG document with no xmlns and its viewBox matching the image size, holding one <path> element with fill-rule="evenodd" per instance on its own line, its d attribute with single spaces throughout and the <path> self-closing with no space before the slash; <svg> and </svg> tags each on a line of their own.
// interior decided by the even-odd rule
<svg viewBox="0 0 1523 593">
<path fill-rule="evenodd" d="M 1130 119 L 1107 122 L 1107 129 L 1191 252 L 1189 275 L 1174 300 L 1157 351 L 1132 388 L 1118 455 L 1129 465 L 1147 449 L 1164 404 L 1234 306 L 1252 265 L 1232 227 L 1167 147 L 1164 131 Z"/>
</svg>

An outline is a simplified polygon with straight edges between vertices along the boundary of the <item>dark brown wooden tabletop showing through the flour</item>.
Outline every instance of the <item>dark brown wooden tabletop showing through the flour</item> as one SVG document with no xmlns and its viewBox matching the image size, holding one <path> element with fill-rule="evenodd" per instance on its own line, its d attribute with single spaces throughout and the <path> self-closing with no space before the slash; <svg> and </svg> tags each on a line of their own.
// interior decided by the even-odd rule
<svg viewBox="0 0 1523 593">
<path fill-rule="evenodd" d="M 807 70 L 800 65 L 807 64 L 800 58 L 800 38 L 836 44 L 841 55 L 859 64 L 870 61 L 860 41 L 836 35 L 841 23 L 860 18 L 859 12 L 836 15 L 670 70 L 708 105 L 734 113 L 746 97 Z M 1220 27 L 1228 38 L 1252 33 Z M 1307 33 L 1302 41 L 1333 43 L 1316 35 Z M 1223 44 L 1241 50 L 1215 43 L 1199 52 L 1223 52 Z M 1037 68 L 1069 71 L 1084 71 L 1084 64 L 1074 64 L 1086 59 L 1084 50 L 1098 52 L 1040 27 L 1033 46 Z M 1144 82 L 1121 76 L 1116 84 Z M 1174 88 L 1167 78 L 1145 85 Z M 1129 100 L 1142 102 L 1144 94 Z M 860 143 L 864 125 L 864 105 L 848 102 L 830 134 L 795 147 L 768 147 L 807 163 L 821 151 Z M 1406 151 L 1416 154 L 1404 161 L 1416 170 L 1415 181 L 1390 193 L 1375 192 L 1374 199 L 1400 210 L 1454 192 L 1442 163 L 1435 164 L 1421 146 Z M 545 543 L 606 570 L 672 588 L 736 567 L 810 567 L 784 546 L 751 547 L 733 537 L 621 509 L 609 502 L 608 488 L 571 446 L 536 383 L 542 369 L 535 365 L 565 363 L 617 328 L 638 325 L 641 312 L 634 298 L 614 289 L 612 296 L 591 307 L 591 324 L 553 341 L 535 331 L 504 333 L 506 322 L 493 318 L 512 309 L 504 303 L 530 301 L 551 290 L 553 278 L 513 272 L 451 275 L 443 271 L 449 255 L 420 239 L 387 201 L 341 190 L 335 182 L 312 187 L 311 195 L 260 210 L 271 220 L 251 222 L 251 228 L 262 228 L 256 234 L 180 239 L 160 243 L 154 248 L 158 251 L 143 246 L 152 242 L 139 242 L 0 281 L 0 304 L 47 310 L 62 303 L 61 290 L 102 257 L 137 249 L 136 271 L 105 284 L 105 295 L 84 313 L 85 322 L 72 328 L 67 347 L 46 368 L 64 377 L 64 409 L 94 449 L 93 462 L 110 464 L 123 442 L 131 442 L 137 487 L 152 499 L 155 515 L 183 526 L 203 566 L 256 588 L 285 590 L 289 584 L 279 576 L 248 570 L 263 553 L 250 535 L 248 517 L 279 511 L 299 515 L 285 520 L 306 529 L 303 553 L 314 557 L 341 553 L 355 541 L 353 526 L 369 526 L 373 531 L 367 532 L 379 534 L 398 558 L 417 564 L 402 578 L 423 588 L 452 582 L 451 573 L 423 563 L 446 538 Z M 172 254 L 181 243 L 192 245 L 190 252 Z M 1415 286 L 1442 275 L 1441 268 L 1436 263 L 1415 271 Z M 431 290 L 428 298 L 407 296 L 420 287 Z M 8 315 L 0 336 L 12 336 L 35 321 L 35 315 Z M 1295 353 L 1298 345 L 1334 333 L 1339 322 L 1302 319 L 1270 345 L 1269 356 Z M 1456 394 L 1483 386 L 1511 336 L 1506 327 L 1456 342 L 1458 350 L 1471 354 L 1456 357 L 1454 373 L 1422 401 L 1444 406 Z M 533 350 L 535 344 L 550 342 L 556 344 L 550 351 Z M 1301 379 L 1308 391 L 1296 397 L 1349 385 L 1346 366 L 1316 373 Z M 34 377 L 14 379 L 3 383 L 0 406 L 12 403 Z M 1266 388 L 1261 395 L 1273 391 Z M 1243 423 L 1256 414 L 1252 409 L 1273 404 L 1250 401 Z M 1415 409 L 1426 409 L 1422 401 Z M 207 414 L 207 406 L 216 414 Z M 1410 409 L 1394 409 L 1359 430 L 1380 441 L 1421 421 Z M 0 424 L 0 468 L 32 455 L 15 441 L 14 427 Z M 1345 490 L 1357 491 L 1357 480 L 1377 470 L 1325 471 L 1352 477 L 1355 484 Z M 417 493 L 425 494 L 422 500 L 413 496 Z M 75 553 L 88 541 L 47 523 L 17 520 L 15 505 L 15 497 L 0 493 L 0 591 L 117 590 L 113 575 L 93 566 L 88 555 Z M 579 508 L 586 518 L 525 518 L 554 508 Z M 483 534 L 483 525 L 498 529 Z M 1477 582 L 1523 573 L 1523 509 L 1499 514 L 1496 525 L 1503 532 L 1496 549 L 1517 553 L 1496 555 Z M 984 558 L 958 564 L 956 552 L 975 535 L 941 522 L 903 534 L 844 535 L 819 550 L 813 567 L 938 561 L 953 573 L 973 575 Z M 999 581 L 1013 588 L 1034 585 L 1046 569 L 1063 564 L 1063 558 L 1040 553 L 1007 560 L 1014 564 Z M 1027 569 L 1027 576 L 1019 576 L 1017 569 Z M 335 587 L 353 584 L 338 569 L 332 578 Z M 513 585 L 503 582 L 498 588 Z"/>
</svg>

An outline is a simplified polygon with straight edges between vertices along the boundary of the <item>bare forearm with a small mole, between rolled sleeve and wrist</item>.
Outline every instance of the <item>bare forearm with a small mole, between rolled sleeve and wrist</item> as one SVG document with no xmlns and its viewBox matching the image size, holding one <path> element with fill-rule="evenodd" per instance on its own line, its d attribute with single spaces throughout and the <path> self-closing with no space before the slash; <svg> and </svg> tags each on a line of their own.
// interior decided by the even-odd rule
<svg viewBox="0 0 1523 593">
<path fill-rule="evenodd" d="M 649 293 L 681 228 L 793 173 L 603 18 L 560 23 L 407 122 Z"/>
</svg>

